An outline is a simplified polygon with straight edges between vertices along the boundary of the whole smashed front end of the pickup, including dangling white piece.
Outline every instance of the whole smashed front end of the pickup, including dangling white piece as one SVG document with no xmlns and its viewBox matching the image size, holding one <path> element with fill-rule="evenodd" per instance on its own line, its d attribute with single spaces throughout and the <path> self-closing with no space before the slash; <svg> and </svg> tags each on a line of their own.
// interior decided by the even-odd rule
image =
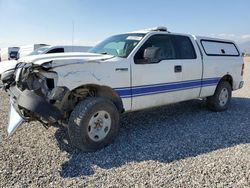
<svg viewBox="0 0 250 188">
<path fill-rule="evenodd" d="M 25 121 L 38 120 L 48 126 L 63 122 L 70 92 L 56 87 L 58 75 L 51 62 L 43 65 L 19 63 L 14 70 L 1 75 L 3 89 L 10 95 L 8 134 L 12 135 Z"/>
</svg>

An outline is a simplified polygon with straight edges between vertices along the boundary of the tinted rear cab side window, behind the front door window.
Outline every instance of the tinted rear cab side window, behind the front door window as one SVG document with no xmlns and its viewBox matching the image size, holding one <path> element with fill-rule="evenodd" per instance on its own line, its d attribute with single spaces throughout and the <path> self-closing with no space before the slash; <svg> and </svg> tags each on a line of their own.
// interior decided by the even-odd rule
<svg viewBox="0 0 250 188">
<path fill-rule="evenodd" d="M 196 53 L 194 46 L 187 36 L 177 36 L 174 37 L 178 59 L 196 59 Z"/>
</svg>

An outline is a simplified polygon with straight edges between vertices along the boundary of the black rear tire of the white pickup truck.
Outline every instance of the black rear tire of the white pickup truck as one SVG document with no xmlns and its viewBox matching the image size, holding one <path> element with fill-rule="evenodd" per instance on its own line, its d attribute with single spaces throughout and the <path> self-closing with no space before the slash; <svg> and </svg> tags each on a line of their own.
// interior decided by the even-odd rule
<svg viewBox="0 0 250 188">
<path fill-rule="evenodd" d="M 227 100 L 226 102 L 223 102 L 222 99 L 220 99 L 220 95 L 222 92 L 227 91 Z M 215 112 L 221 112 L 228 108 L 230 101 L 232 97 L 232 87 L 230 83 L 228 83 L 225 80 L 220 81 L 219 85 L 217 86 L 215 93 L 213 96 L 207 98 L 207 105 L 208 108 Z"/>
</svg>

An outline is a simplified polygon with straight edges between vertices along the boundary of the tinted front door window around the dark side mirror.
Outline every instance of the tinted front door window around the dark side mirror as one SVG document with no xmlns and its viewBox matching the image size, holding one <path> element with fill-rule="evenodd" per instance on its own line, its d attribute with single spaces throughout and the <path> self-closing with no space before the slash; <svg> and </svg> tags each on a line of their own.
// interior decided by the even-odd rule
<svg viewBox="0 0 250 188">
<path fill-rule="evenodd" d="M 148 47 L 160 48 L 160 60 L 176 59 L 176 52 L 172 42 L 172 37 L 169 35 L 153 35 L 150 37 L 135 54 L 135 63 L 143 61 L 143 54 Z"/>
</svg>

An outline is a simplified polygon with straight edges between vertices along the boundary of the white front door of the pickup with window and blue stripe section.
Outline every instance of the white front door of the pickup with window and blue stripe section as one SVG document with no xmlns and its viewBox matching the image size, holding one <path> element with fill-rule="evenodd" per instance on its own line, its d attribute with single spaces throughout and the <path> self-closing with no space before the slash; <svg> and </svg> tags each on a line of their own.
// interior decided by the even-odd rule
<svg viewBox="0 0 250 188">
<path fill-rule="evenodd" d="M 160 48 L 158 62 L 142 63 L 148 47 Z M 136 52 L 133 61 L 132 110 L 174 103 L 182 98 L 182 62 L 176 59 L 171 35 L 151 36 Z"/>
</svg>

